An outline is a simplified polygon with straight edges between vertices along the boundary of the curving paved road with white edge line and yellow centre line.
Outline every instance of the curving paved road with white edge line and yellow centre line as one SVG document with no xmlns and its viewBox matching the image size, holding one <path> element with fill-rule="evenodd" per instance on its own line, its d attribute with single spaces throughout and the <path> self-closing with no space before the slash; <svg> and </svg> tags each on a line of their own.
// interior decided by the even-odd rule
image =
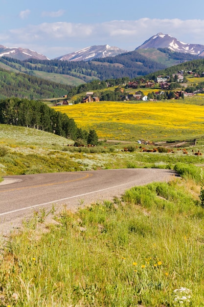
<svg viewBox="0 0 204 307">
<path fill-rule="evenodd" d="M 6 176 L 0 184 L 0 231 L 8 232 L 42 207 L 79 206 L 119 197 L 126 189 L 152 181 L 168 181 L 173 171 L 114 169 Z"/>
</svg>

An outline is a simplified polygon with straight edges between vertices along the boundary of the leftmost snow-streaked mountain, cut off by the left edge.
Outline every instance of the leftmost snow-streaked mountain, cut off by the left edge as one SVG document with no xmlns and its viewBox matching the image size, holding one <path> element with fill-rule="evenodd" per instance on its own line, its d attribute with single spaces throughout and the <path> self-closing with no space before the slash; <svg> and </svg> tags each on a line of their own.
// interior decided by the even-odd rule
<svg viewBox="0 0 204 307">
<path fill-rule="evenodd" d="M 30 49 L 18 47 L 10 48 L 2 45 L 0 45 L 0 56 L 8 56 L 22 61 L 31 57 L 39 60 L 49 60 L 45 55 Z"/>
</svg>

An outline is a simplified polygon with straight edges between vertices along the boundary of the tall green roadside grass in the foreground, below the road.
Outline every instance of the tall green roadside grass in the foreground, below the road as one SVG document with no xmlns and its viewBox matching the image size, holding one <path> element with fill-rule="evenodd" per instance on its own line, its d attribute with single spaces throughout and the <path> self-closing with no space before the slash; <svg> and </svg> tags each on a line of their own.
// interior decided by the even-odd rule
<svg viewBox="0 0 204 307">
<path fill-rule="evenodd" d="M 180 179 L 54 219 L 1 251 L 2 306 L 204 306 L 204 210 Z"/>
</svg>

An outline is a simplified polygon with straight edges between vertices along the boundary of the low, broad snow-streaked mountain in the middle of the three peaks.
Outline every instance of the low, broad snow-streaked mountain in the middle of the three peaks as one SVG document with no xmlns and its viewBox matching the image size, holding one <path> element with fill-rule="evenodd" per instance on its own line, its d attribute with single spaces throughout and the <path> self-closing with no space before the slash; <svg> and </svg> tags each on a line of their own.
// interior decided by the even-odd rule
<svg viewBox="0 0 204 307">
<path fill-rule="evenodd" d="M 126 50 L 118 47 L 110 47 L 109 45 L 91 46 L 79 51 L 68 53 L 57 57 L 57 60 L 64 61 L 90 61 L 94 58 L 101 58 L 107 56 L 115 56 L 127 52 Z"/>
</svg>

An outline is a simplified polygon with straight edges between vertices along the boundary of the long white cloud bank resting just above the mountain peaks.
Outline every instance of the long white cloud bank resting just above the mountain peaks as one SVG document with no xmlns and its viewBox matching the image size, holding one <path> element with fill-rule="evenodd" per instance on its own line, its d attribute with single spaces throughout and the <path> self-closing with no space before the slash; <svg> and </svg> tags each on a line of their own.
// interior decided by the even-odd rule
<svg viewBox="0 0 204 307">
<path fill-rule="evenodd" d="M 4 44 L 6 38 L 7 46 L 26 45 L 29 48 L 30 44 L 32 49 L 53 58 L 69 53 L 70 50 L 77 51 L 92 45 L 108 44 L 133 51 L 159 32 L 176 37 L 184 43 L 204 45 L 203 29 L 204 20 L 196 19 L 142 18 L 135 21 L 110 21 L 97 24 L 58 22 L 28 25 L 0 32 L 0 41 Z M 59 51 L 57 48 L 63 50 L 62 54 L 57 53 Z"/>
</svg>

